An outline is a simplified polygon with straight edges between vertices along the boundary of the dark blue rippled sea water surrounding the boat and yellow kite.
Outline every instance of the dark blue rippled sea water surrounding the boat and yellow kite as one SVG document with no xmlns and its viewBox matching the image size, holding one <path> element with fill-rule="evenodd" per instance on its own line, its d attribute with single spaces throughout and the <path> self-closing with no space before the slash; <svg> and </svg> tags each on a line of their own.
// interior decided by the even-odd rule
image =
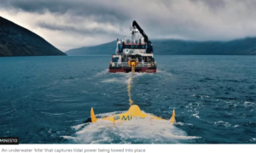
<svg viewBox="0 0 256 153">
<path fill-rule="evenodd" d="M 156 74 L 136 73 L 131 99 L 148 121 L 83 123 L 127 111 L 128 74 L 108 73 L 110 56 L 0 58 L 0 135 L 23 144 L 255 144 L 254 56 L 155 56 Z"/>
</svg>

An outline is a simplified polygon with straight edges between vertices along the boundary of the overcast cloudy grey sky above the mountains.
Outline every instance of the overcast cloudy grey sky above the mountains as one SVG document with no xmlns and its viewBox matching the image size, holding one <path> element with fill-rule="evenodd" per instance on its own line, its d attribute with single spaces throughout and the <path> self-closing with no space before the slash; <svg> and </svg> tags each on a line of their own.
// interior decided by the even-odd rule
<svg viewBox="0 0 256 153">
<path fill-rule="evenodd" d="M 0 16 L 61 51 L 129 36 L 228 41 L 256 36 L 256 0 L 0 0 Z"/>
</svg>

